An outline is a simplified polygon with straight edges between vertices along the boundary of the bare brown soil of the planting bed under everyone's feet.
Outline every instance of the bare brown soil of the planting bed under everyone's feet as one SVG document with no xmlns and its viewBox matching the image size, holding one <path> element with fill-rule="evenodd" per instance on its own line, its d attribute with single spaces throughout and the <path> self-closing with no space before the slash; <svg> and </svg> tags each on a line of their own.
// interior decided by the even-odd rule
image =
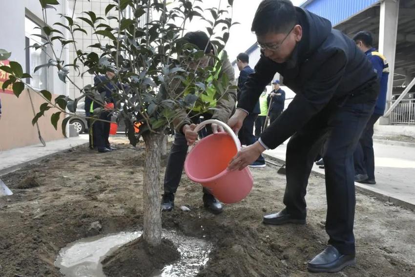
<svg viewBox="0 0 415 277">
<path fill-rule="evenodd" d="M 53 263 L 67 243 L 142 228 L 144 145 L 133 148 L 120 137 L 112 142 L 118 150 L 79 147 L 1 177 L 14 192 L 0 198 L 1 277 L 61 276 Z M 336 274 L 309 273 L 307 261 L 328 239 L 324 179 L 310 177 L 306 225 L 267 226 L 263 214 L 284 207 L 285 175 L 277 170 L 251 170 L 252 192 L 219 215 L 203 208 L 201 186 L 184 175 L 163 227 L 214 243 L 200 277 L 415 276 L 415 213 L 362 194 L 356 195 L 357 265 Z M 23 189 L 30 177 L 39 186 Z M 181 211 L 182 205 L 191 211 Z M 96 221 L 101 230 L 89 228 Z"/>
</svg>

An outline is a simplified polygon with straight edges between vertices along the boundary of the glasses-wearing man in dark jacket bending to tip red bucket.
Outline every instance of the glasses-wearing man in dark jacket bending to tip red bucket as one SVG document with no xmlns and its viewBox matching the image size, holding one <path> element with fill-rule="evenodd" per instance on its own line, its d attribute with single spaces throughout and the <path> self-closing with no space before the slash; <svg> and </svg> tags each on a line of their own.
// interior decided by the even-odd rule
<svg viewBox="0 0 415 277">
<path fill-rule="evenodd" d="M 289 0 L 263 0 L 251 30 L 262 55 L 228 125 L 235 131 L 241 128 L 276 72 L 296 95 L 258 142 L 237 153 L 228 169 L 243 169 L 265 149 L 274 149 L 291 136 L 286 154 L 286 208 L 265 215 L 263 222 L 305 224 L 308 178 L 321 149 L 313 146 L 328 132 L 323 158 L 329 245 L 309 261 L 308 269 L 340 271 L 355 263 L 353 151 L 373 113 L 379 87 L 376 74 L 364 53 L 332 29 L 330 21 L 294 7 Z"/>
</svg>

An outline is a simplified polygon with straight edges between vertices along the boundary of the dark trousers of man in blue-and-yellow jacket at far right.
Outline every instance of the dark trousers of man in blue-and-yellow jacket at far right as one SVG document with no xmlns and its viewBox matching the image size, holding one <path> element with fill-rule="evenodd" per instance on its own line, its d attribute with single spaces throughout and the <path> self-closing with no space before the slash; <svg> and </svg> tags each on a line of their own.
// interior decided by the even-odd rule
<svg viewBox="0 0 415 277">
<path fill-rule="evenodd" d="M 379 117 L 380 114 L 372 114 L 353 154 L 355 174 L 368 174 L 371 180 L 374 180 L 373 125 Z"/>
</svg>

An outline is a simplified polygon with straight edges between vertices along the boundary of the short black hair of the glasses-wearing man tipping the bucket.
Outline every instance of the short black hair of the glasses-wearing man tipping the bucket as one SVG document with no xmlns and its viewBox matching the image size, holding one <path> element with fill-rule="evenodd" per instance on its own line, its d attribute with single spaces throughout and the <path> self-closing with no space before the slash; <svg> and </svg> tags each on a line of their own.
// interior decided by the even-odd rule
<svg viewBox="0 0 415 277">
<path fill-rule="evenodd" d="M 263 0 L 255 12 L 251 31 L 257 36 L 286 33 L 296 23 L 295 8 L 290 0 Z"/>
</svg>

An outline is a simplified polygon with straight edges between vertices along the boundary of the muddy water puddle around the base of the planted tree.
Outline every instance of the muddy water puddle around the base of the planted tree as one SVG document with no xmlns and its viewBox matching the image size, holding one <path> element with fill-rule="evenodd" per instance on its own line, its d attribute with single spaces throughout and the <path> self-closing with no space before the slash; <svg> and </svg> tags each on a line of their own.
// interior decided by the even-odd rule
<svg viewBox="0 0 415 277">
<path fill-rule="evenodd" d="M 101 261 L 123 244 L 138 238 L 141 232 L 99 235 L 77 240 L 62 248 L 55 261 L 66 277 L 105 277 Z M 203 239 L 165 231 L 180 252 L 180 260 L 154 272 L 153 277 L 193 277 L 207 263 L 213 245 Z"/>
</svg>

